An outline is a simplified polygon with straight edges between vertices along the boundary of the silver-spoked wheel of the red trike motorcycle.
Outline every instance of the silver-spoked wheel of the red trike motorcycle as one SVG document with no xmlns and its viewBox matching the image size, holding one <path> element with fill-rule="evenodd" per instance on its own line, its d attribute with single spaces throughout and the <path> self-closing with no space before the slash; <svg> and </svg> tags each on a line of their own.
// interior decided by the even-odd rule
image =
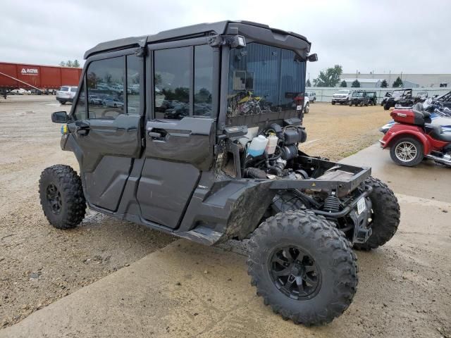
<svg viewBox="0 0 451 338">
<path fill-rule="evenodd" d="M 423 161 L 423 144 L 415 137 L 401 137 L 390 145 L 392 160 L 407 167 L 413 167 Z"/>
</svg>

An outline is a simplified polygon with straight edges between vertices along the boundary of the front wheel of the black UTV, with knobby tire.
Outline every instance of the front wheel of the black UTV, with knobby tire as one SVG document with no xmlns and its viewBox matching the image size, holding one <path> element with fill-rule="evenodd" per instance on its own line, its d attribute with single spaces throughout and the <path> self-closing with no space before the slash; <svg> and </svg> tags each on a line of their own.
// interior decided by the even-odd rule
<svg viewBox="0 0 451 338">
<path fill-rule="evenodd" d="M 39 197 L 44 215 L 58 229 L 76 227 L 85 218 L 82 181 L 68 165 L 52 165 L 42 171 Z"/>
</svg>

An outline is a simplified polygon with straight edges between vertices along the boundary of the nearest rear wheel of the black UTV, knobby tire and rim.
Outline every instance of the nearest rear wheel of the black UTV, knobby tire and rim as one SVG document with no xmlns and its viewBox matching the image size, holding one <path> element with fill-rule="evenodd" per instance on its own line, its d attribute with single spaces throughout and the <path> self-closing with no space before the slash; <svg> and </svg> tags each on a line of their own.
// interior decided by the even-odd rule
<svg viewBox="0 0 451 338">
<path fill-rule="evenodd" d="M 278 213 L 261 223 L 249 246 L 251 284 L 283 319 L 322 325 L 350 306 L 357 289 L 357 258 L 344 234 L 326 218 L 311 211 Z"/>
</svg>

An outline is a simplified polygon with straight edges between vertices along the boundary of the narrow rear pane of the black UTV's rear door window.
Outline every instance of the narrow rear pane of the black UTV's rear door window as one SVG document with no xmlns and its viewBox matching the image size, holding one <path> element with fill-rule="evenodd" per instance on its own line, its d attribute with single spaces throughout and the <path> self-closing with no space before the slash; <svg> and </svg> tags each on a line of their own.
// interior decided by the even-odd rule
<svg viewBox="0 0 451 338">
<path fill-rule="evenodd" d="M 213 92 L 213 49 L 209 45 L 194 47 L 194 115 L 211 116 Z"/>
</svg>

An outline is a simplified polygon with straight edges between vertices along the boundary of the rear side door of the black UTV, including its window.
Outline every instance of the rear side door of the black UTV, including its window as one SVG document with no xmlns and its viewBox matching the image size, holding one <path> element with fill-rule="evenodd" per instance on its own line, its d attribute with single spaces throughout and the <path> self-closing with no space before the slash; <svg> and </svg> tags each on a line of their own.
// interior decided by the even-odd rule
<svg viewBox="0 0 451 338">
<path fill-rule="evenodd" d="M 204 44 L 205 39 L 197 43 Z M 202 171 L 211 168 L 216 54 L 209 45 L 149 48 L 147 86 L 154 90 L 149 91 L 146 149 L 137 189 L 145 220 L 178 227 Z"/>
</svg>

